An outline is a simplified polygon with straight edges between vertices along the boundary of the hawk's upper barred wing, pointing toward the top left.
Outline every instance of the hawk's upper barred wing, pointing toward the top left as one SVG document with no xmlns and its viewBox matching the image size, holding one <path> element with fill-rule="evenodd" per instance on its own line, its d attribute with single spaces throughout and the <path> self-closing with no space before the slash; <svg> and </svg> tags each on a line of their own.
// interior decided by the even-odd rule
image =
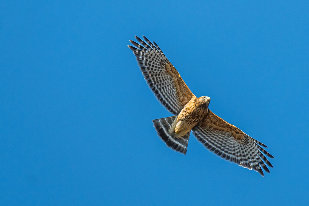
<svg viewBox="0 0 309 206">
<path fill-rule="evenodd" d="M 153 44 L 143 36 L 144 42 L 135 36 L 139 44 L 130 42 L 136 46 L 128 47 L 136 56 L 147 84 L 155 93 L 157 100 L 172 114 L 177 115 L 181 109 L 191 100 L 193 93 L 181 79 L 175 67 L 167 60 L 159 46 Z"/>
</svg>

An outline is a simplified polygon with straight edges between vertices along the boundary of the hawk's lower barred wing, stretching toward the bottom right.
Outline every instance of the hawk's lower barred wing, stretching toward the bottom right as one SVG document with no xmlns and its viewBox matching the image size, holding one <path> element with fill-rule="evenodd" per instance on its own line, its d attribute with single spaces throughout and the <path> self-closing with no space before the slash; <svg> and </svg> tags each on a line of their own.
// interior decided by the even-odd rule
<svg viewBox="0 0 309 206">
<path fill-rule="evenodd" d="M 261 168 L 269 173 L 266 165 L 273 167 L 264 154 L 270 158 L 273 158 L 273 156 L 261 148 L 261 146 L 267 148 L 265 144 L 248 136 L 210 110 L 192 131 L 198 141 L 211 152 L 239 166 L 249 170 L 253 169 L 263 177 L 264 173 Z"/>
</svg>

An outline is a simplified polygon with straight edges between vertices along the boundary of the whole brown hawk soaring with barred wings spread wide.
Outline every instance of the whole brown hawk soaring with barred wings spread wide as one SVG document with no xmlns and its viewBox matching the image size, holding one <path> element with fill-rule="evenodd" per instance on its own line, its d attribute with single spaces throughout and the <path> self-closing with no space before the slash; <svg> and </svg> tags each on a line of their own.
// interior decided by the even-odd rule
<svg viewBox="0 0 309 206">
<path fill-rule="evenodd" d="M 196 97 L 159 46 L 135 36 L 128 45 L 136 57 L 145 80 L 157 100 L 174 116 L 152 120 L 159 137 L 171 149 L 187 153 L 190 133 L 219 157 L 249 170 L 269 173 L 272 167 L 265 157 L 274 158 L 265 144 L 224 121 L 208 109 L 210 98 Z M 262 148 L 264 147 L 264 148 Z M 267 166 L 266 166 L 267 165 Z"/>
</svg>

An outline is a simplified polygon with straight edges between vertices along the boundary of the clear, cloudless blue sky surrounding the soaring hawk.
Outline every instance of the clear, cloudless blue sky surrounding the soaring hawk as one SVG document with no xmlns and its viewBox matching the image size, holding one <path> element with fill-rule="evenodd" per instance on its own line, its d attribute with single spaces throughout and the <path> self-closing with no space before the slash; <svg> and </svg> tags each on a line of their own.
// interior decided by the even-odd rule
<svg viewBox="0 0 309 206">
<path fill-rule="evenodd" d="M 307 1 L 1 1 L 0 205 L 308 205 Z M 226 162 L 171 116 L 129 39 L 155 41 L 196 96 L 266 144 L 270 174 Z"/>
</svg>

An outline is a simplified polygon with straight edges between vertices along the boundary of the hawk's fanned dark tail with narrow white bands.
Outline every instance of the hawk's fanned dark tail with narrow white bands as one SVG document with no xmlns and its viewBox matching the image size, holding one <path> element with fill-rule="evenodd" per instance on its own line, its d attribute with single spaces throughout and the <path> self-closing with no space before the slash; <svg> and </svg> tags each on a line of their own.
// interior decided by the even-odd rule
<svg viewBox="0 0 309 206">
<path fill-rule="evenodd" d="M 174 138 L 173 135 L 168 133 L 168 129 L 171 127 L 171 124 L 174 122 L 176 117 L 177 116 L 154 119 L 152 122 L 154 123 L 155 130 L 157 131 L 159 137 L 165 142 L 167 147 L 170 147 L 171 149 L 185 155 L 187 153 L 191 131 L 181 138 Z"/>
</svg>

